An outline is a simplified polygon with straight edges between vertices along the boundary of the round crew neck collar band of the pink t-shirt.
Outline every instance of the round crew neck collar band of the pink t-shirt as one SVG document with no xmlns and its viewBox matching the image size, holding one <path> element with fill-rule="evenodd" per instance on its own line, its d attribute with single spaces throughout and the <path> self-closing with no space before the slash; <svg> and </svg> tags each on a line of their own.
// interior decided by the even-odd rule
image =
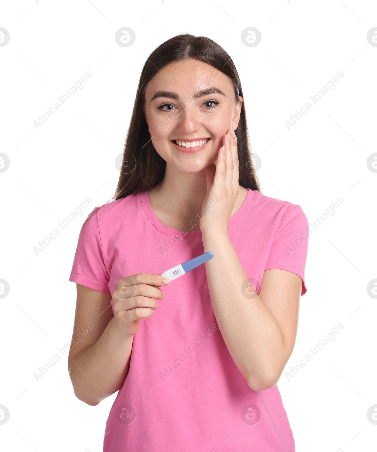
<svg viewBox="0 0 377 452">
<path fill-rule="evenodd" d="M 242 206 L 237 210 L 237 212 L 232 215 L 229 218 L 228 223 L 228 229 L 233 226 L 237 221 L 240 220 L 241 217 L 243 217 L 248 210 L 248 208 L 251 206 L 251 203 L 254 200 L 256 190 L 251 190 L 250 188 L 247 189 L 248 193 L 246 195 L 245 201 L 243 202 Z M 151 223 L 151 225 L 157 230 L 162 232 L 163 234 L 167 234 L 170 236 L 173 235 L 179 235 L 181 234 L 181 231 L 178 229 L 174 229 L 169 226 L 165 226 L 161 223 L 161 221 L 156 217 L 155 212 L 153 212 L 151 202 L 149 200 L 149 194 L 148 190 L 144 192 L 137 193 L 138 200 L 141 203 L 141 207 L 146 215 L 147 220 Z M 200 229 L 198 231 L 190 231 L 189 225 L 187 226 L 186 234 L 182 235 L 183 238 L 189 238 L 189 239 L 197 239 L 199 237 L 202 237 L 202 231 Z"/>
</svg>

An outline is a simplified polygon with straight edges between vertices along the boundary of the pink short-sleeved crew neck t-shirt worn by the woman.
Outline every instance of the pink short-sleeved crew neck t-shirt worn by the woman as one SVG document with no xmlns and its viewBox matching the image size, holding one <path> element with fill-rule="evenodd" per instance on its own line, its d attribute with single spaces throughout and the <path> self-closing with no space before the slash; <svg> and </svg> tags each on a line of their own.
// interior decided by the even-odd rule
<svg viewBox="0 0 377 452">
<path fill-rule="evenodd" d="M 299 275 L 306 292 L 310 231 L 299 205 L 249 189 L 228 233 L 255 290 L 264 270 L 280 268 Z M 163 225 L 145 191 L 110 202 L 90 218 L 69 280 L 112 294 L 121 278 L 160 274 L 203 253 L 202 232 Z M 205 265 L 163 291 L 159 309 L 140 321 L 133 338 L 130 369 L 106 422 L 104 451 L 294 452 L 277 386 L 250 389 L 226 348 Z"/>
</svg>

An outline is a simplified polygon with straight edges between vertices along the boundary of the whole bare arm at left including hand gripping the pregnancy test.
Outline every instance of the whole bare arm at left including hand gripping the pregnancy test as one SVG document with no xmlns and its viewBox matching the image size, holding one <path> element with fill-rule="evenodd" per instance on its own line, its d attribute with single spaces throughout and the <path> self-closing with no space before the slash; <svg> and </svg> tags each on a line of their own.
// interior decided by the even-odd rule
<svg viewBox="0 0 377 452">
<path fill-rule="evenodd" d="M 151 317 L 158 308 L 153 298 L 163 297 L 156 287 L 163 285 L 160 278 L 139 273 L 119 280 L 113 292 L 115 315 L 111 295 L 77 284 L 68 371 L 78 399 L 98 405 L 123 386 L 140 319 Z"/>
</svg>

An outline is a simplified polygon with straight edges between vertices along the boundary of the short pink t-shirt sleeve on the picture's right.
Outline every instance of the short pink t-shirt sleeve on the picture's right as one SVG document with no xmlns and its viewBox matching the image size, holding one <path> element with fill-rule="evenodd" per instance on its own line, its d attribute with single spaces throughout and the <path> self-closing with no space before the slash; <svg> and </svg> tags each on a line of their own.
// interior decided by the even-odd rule
<svg viewBox="0 0 377 452">
<path fill-rule="evenodd" d="M 301 295 L 306 293 L 305 264 L 310 233 L 302 208 L 293 205 L 278 225 L 265 267 L 265 270 L 278 268 L 296 273 L 302 279 Z"/>
</svg>

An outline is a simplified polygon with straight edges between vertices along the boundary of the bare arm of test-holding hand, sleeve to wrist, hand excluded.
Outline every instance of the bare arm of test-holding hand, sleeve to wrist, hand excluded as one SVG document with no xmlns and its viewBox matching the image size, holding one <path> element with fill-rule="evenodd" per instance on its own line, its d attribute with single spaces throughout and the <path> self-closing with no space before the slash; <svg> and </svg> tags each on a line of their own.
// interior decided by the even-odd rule
<svg viewBox="0 0 377 452">
<path fill-rule="evenodd" d="M 89 405 L 118 391 L 129 368 L 133 337 L 122 338 L 114 329 L 110 300 L 107 293 L 77 284 L 73 339 L 88 323 L 93 328 L 71 345 L 68 369 L 76 397 Z"/>
</svg>

